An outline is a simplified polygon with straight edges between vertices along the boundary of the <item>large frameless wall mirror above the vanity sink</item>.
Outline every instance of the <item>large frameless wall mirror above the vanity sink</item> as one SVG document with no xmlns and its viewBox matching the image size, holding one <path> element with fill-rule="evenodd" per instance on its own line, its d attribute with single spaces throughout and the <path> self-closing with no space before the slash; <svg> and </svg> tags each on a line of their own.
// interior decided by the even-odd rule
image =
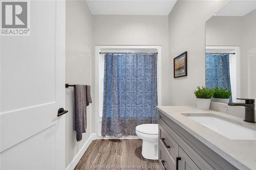
<svg viewBox="0 0 256 170">
<path fill-rule="evenodd" d="M 206 21 L 205 85 L 256 99 L 256 1 L 230 1 Z M 223 98 L 227 93 L 223 94 Z"/>
</svg>

